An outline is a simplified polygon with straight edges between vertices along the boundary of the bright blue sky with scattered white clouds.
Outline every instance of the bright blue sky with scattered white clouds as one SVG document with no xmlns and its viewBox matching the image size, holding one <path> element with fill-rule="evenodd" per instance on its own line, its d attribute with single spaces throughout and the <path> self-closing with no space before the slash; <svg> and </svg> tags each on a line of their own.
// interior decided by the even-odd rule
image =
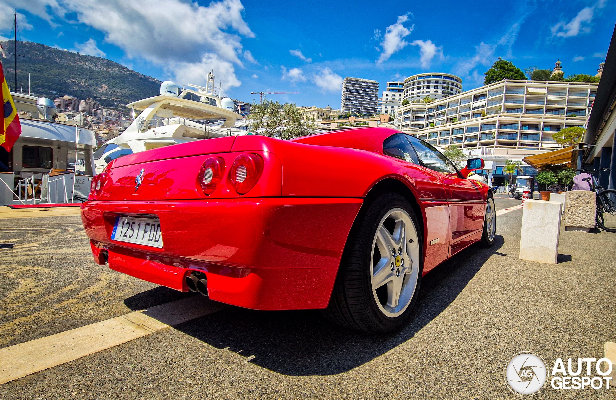
<svg viewBox="0 0 616 400">
<path fill-rule="evenodd" d="M 143 6 L 140 4 L 147 4 Z M 21 38 L 98 55 L 179 86 L 214 68 L 227 95 L 339 108 L 342 78 L 428 71 L 481 86 L 498 57 L 565 75 L 596 73 L 616 1 L 288 2 L 0 0 L 0 35 L 17 9 Z M 18 38 L 19 39 L 19 38 Z"/>
</svg>

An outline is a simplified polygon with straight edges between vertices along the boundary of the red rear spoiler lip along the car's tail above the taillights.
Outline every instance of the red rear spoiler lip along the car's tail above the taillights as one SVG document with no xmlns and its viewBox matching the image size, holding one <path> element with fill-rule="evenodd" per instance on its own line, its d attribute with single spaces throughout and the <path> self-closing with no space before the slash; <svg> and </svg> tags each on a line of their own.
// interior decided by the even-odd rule
<svg viewBox="0 0 616 400">
<path fill-rule="evenodd" d="M 238 138 L 238 136 L 217 137 L 204 140 L 195 140 L 195 142 L 179 143 L 177 145 L 164 146 L 147 151 L 140 151 L 139 153 L 128 154 L 128 156 L 116 158 L 107 164 L 105 170 L 172 158 L 230 153 L 236 138 Z"/>
</svg>

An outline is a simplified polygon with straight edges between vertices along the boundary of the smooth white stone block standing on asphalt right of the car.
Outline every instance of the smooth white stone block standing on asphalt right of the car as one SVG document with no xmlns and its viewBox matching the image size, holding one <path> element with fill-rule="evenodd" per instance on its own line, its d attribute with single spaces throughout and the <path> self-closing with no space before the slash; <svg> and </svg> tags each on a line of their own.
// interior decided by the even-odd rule
<svg viewBox="0 0 616 400">
<path fill-rule="evenodd" d="M 519 256 L 521 260 L 556 264 L 561 215 L 560 202 L 524 201 Z"/>
</svg>

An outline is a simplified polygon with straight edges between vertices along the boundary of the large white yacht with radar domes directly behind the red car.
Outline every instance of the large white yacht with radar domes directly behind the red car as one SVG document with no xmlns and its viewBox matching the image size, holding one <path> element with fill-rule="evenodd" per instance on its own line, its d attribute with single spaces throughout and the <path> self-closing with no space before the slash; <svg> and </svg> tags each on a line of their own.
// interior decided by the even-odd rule
<svg viewBox="0 0 616 400">
<path fill-rule="evenodd" d="M 176 143 L 193 142 L 229 135 L 246 135 L 246 129 L 235 128 L 241 115 L 233 111 L 233 100 L 222 97 L 214 86 L 214 75 L 208 74 L 205 87 L 188 85 L 179 88 L 164 81 L 160 95 L 126 105 L 134 121 L 118 137 L 105 142 L 94 153 L 99 174 L 113 159 L 139 151 Z M 137 115 L 137 111 L 139 115 Z"/>
</svg>

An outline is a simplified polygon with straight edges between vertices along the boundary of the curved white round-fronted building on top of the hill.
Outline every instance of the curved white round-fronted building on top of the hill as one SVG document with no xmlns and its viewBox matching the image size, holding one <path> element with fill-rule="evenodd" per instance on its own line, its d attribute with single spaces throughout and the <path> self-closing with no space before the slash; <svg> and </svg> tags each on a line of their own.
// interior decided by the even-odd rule
<svg viewBox="0 0 616 400">
<path fill-rule="evenodd" d="M 431 98 L 445 98 L 462 92 L 462 79 L 453 74 L 424 73 L 409 76 L 404 80 L 403 99 L 409 102 Z"/>
</svg>

